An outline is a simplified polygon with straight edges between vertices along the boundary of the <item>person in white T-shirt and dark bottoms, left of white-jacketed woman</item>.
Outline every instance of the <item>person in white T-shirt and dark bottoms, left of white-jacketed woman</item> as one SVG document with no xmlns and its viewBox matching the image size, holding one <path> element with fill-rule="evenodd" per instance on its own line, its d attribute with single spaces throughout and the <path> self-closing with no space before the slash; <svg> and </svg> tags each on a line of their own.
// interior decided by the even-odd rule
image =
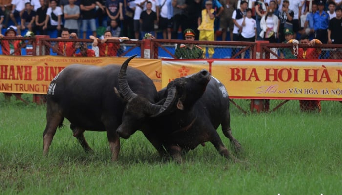
<svg viewBox="0 0 342 195">
<path fill-rule="evenodd" d="M 255 42 L 257 39 L 256 20 L 252 18 L 252 9 L 246 10 L 246 16 L 243 17 L 241 26 L 241 41 Z M 241 54 L 241 58 L 245 58 L 245 52 Z M 249 51 L 249 58 L 252 58 L 252 50 Z"/>
</svg>

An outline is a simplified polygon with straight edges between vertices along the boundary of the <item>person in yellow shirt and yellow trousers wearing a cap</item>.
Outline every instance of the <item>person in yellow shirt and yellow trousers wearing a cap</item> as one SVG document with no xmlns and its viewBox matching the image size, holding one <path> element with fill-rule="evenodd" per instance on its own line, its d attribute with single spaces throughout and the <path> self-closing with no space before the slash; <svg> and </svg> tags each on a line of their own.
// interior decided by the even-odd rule
<svg viewBox="0 0 342 195">
<path fill-rule="evenodd" d="M 216 11 L 213 9 L 213 2 L 211 0 L 207 0 L 205 2 L 205 9 L 201 11 L 201 16 L 198 19 L 200 25 L 198 26 L 199 30 L 199 40 L 209 40 L 214 41 L 214 21 L 215 21 Z M 202 48 L 203 50 L 203 58 L 206 56 L 207 48 Z M 214 48 L 208 48 L 209 58 L 213 57 Z"/>
</svg>

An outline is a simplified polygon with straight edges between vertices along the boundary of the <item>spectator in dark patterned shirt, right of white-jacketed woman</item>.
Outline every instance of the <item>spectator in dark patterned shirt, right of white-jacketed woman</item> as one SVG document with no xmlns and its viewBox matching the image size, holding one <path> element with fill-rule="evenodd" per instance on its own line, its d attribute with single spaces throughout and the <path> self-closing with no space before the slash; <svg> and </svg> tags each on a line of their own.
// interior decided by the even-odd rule
<svg viewBox="0 0 342 195">
<path fill-rule="evenodd" d="M 284 30 L 285 28 L 289 28 L 293 31 L 293 17 L 294 12 L 289 9 L 290 2 L 288 0 L 284 0 L 282 3 L 282 9 L 279 13 L 279 23 L 277 30 L 277 37 L 280 39 L 280 42 L 285 41 Z"/>
</svg>

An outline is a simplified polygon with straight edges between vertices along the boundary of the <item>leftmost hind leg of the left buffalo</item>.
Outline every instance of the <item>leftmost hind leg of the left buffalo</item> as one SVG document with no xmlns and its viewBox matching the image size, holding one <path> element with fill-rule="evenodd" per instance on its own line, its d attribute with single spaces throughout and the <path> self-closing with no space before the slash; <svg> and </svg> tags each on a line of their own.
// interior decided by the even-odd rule
<svg viewBox="0 0 342 195">
<path fill-rule="evenodd" d="M 43 133 L 43 154 L 47 155 L 49 147 L 51 145 L 53 136 L 56 133 L 57 127 L 61 126 L 64 117 L 60 115 L 57 111 L 54 111 L 54 106 L 47 108 L 46 113 L 46 127 Z"/>
</svg>

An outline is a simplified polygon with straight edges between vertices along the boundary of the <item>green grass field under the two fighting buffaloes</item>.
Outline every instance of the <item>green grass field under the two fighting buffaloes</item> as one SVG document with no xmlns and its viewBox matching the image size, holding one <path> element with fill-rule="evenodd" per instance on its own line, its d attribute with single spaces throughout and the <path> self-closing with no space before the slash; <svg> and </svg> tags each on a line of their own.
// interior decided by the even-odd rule
<svg viewBox="0 0 342 195">
<path fill-rule="evenodd" d="M 342 104 L 322 102 L 318 114 L 293 102 L 247 115 L 231 106 L 233 135 L 243 147 L 238 158 L 250 166 L 219 156 L 210 143 L 183 164 L 162 162 L 141 132 L 121 139 L 120 160 L 111 163 L 105 132 L 85 132 L 95 151 L 87 154 L 67 120 L 44 157 L 46 107 L 5 103 L 0 94 L 0 194 L 341 195 Z"/>
</svg>

